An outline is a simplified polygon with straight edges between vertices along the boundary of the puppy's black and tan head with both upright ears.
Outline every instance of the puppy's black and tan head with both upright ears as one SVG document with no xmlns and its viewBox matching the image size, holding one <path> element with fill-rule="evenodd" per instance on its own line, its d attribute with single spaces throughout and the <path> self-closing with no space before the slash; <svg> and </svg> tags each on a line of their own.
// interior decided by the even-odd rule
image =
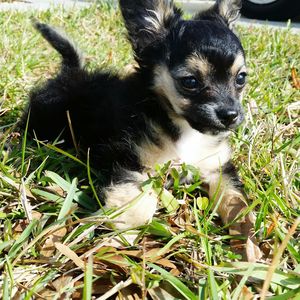
<svg viewBox="0 0 300 300">
<path fill-rule="evenodd" d="M 243 120 L 244 51 L 231 31 L 240 0 L 217 0 L 190 20 L 168 0 L 120 0 L 129 40 L 153 89 L 175 115 L 200 132 L 218 133 Z"/>
</svg>

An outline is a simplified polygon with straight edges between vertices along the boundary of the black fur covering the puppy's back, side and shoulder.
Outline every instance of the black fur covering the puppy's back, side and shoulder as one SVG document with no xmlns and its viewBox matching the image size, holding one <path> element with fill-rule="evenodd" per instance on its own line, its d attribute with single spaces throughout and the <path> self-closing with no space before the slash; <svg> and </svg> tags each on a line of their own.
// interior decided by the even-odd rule
<svg viewBox="0 0 300 300">
<path fill-rule="evenodd" d="M 60 136 L 65 147 L 70 147 L 69 111 L 76 141 L 84 151 L 90 148 L 95 168 L 107 175 L 116 166 L 141 171 L 134 144 L 145 137 L 160 143 L 148 127 L 149 121 L 159 123 L 174 140 L 179 134 L 153 92 L 145 88 L 148 80 L 140 71 L 120 80 L 65 66 L 56 78 L 31 93 L 29 131 L 34 130 L 40 140 L 53 141 Z"/>
</svg>

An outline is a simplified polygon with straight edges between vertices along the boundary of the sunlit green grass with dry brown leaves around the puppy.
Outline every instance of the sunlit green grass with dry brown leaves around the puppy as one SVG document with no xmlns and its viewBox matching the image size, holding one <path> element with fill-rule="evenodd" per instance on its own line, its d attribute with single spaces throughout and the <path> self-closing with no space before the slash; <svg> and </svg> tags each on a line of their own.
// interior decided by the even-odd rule
<svg viewBox="0 0 300 300">
<path fill-rule="evenodd" d="M 265 282 L 262 293 L 270 299 L 299 299 L 300 91 L 290 76 L 299 68 L 300 36 L 238 28 L 250 74 L 247 118 L 232 141 L 234 161 L 265 255 L 252 264 L 230 251 L 226 228 L 201 196 L 197 172 L 195 185 L 181 186 L 171 165 L 158 167 L 143 187 L 161 188 L 168 172 L 175 179 L 138 244 L 108 245 L 122 232 L 105 226 L 117 212 L 99 210 L 94 170 L 59 144 L 26 141 L 13 126 L 28 91 L 59 67 L 31 16 L 0 12 L 0 297 L 251 299 Z M 120 15 L 107 5 L 34 17 L 64 28 L 84 50 L 89 68 L 117 71 L 132 62 Z"/>
</svg>

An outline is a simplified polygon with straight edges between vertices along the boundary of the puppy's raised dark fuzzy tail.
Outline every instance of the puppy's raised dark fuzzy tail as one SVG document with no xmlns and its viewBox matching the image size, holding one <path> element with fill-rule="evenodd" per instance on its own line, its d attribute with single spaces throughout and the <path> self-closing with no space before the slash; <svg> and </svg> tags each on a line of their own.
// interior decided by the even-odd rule
<svg viewBox="0 0 300 300">
<path fill-rule="evenodd" d="M 61 32 L 53 27 L 34 21 L 34 27 L 49 42 L 49 44 L 62 56 L 62 66 L 68 68 L 81 68 L 82 59 L 73 43 Z"/>
</svg>

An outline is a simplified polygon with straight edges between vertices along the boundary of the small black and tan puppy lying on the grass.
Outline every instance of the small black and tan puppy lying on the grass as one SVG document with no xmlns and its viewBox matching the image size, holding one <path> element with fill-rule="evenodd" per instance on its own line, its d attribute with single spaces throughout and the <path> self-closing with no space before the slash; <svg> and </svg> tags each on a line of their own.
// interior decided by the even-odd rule
<svg viewBox="0 0 300 300">
<path fill-rule="evenodd" d="M 184 20 L 167 0 L 120 0 L 138 68 L 125 78 L 88 72 L 72 43 L 48 25 L 37 30 L 61 54 L 60 73 L 30 96 L 29 133 L 60 136 L 66 146 L 89 149 L 93 167 L 107 179 L 107 208 L 126 207 L 119 229 L 151 221 L 157 195 L 140 185 L 157 163 L 199 168 L 230 234 L 244 235 L 244 259 L 260 257 L 251 213 L 230 161 L 228 137 L 243 120 L 244 51 L 231 31 L 240 0 L 217 0 Z M 220 172 L 221 170 L 221 172 Z"/>
</svg>

